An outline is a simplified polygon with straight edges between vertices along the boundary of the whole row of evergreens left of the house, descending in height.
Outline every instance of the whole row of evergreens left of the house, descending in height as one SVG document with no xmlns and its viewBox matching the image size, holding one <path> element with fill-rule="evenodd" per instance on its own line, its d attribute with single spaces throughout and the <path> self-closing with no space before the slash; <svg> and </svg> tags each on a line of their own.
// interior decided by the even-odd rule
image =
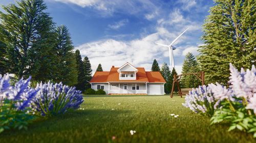
<svg viewBox="0 0 256 143">
<path fill-rule="evenodd" d="M 62 82 L 89 89 L 92 77 L 88 57 L 83 61 L 65 25 L 56 26 L 42 0 L 21 0 L 0 12 L 0 74 L 33 81 Z"/>
</svg>

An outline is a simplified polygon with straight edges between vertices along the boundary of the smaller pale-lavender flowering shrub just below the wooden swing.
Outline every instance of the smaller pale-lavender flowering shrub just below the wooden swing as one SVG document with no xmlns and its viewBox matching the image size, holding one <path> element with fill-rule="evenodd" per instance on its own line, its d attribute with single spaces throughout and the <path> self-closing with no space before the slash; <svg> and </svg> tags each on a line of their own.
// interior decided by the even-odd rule
<svg viewBox="0 0 256 143">
<path fill-rule="evenodd" d="M 185 100 L 185 103 L 182 103 L 183 106 L 189 107 L 195 113 L 209 117 L 214 115 L 215 109 L 219 106 L 219 101 L 214 98 L 211 89 L 205 85 L 190 91 Z"/>
</svg>

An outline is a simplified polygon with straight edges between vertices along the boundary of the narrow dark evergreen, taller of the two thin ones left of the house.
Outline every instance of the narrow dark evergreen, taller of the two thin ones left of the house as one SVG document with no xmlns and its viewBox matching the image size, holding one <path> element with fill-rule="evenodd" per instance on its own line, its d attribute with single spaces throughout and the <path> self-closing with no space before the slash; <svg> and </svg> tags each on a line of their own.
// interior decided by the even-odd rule
<svg viewBox="0 0 256 143">
<path fill-rule="evenodd" d="M 77 70 L 76 89 L 82 91 L 83 93 L 85 89 L 84 66 L 83 66 L 81 55 L 80 55 L 80 51 L 78 49 L 75 52 L 75 59 L 76 59 L 76 70 Z"/>
</svg>

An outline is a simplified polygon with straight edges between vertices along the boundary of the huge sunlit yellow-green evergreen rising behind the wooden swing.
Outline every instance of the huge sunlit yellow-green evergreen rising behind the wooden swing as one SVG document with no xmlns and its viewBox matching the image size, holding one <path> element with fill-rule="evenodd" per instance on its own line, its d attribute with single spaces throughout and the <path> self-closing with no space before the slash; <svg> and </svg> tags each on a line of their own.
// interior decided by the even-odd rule
<svg viewBox="0 0 256 143">
<path fill-rule="evenodd" d="M 256 64 L 256 2 L 215 0 L 203 24 L 198 60 L 206 84 L 229 80 L 229 63 L 244 69 Z"/>
</svg>

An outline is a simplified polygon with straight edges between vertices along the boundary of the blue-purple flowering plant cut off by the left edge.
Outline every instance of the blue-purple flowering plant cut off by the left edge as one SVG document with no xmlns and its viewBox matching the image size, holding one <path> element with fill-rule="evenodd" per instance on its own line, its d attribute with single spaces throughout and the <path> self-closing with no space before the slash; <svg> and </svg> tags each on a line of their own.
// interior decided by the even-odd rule
<svg viewBox="0 0 256 143">
<path fill-rule="evenodd" d="M 34 119 L 26 112 L 30 110 L 29 104 L 38 90 L 28 88 L 27 80 L 20 79 L 12 87 L 9 75 L 0 75 L 0 133 L 5 129 L 27 129 L 27 125 Z"/>
</svg>

